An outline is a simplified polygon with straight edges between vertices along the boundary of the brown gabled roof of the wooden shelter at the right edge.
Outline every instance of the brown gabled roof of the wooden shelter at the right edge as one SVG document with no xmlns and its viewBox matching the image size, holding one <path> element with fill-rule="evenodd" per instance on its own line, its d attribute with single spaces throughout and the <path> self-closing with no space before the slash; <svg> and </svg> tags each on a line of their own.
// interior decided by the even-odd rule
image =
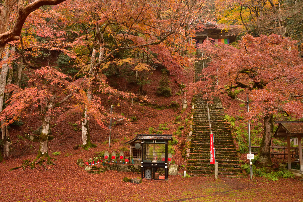
<svg viewBox="0 0 303 202">
<path fill-rule="evenodd" d="M 279 126 L 274 137 L 303 136 L 303 121 L 275 121 Z"/>
</svg>

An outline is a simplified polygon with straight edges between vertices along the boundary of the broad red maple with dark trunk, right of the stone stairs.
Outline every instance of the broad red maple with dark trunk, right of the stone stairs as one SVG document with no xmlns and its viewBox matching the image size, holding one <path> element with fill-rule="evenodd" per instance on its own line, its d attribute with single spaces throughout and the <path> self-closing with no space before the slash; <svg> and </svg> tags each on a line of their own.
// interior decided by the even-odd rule
<svg viewBox="0 0 303 202">
<path fill-rule="evenodd" d="M 260 37 L 246 34 L 235 46 L 219 44 L 215 47 L 207 41 L 202 45 L 205 55 L 213 58 L 205 69 L 205 75 L 209 75 L 206 82 L 213 81 L 211 75 L 218 76 L 218 90 L 223 89 L 232 98 L 239 89 L 250 92 L 252 102 L 247 118 L 264 117 L 264 134 L 258 153 L 264 165 L 271 164 L 273 115 L 286 112 L 298 118 L 303 116 L 303 61 L 298 58 L 297 50 L 290 50 L 295 44 L 296 41 L 275 34 Z"/>
</svg>

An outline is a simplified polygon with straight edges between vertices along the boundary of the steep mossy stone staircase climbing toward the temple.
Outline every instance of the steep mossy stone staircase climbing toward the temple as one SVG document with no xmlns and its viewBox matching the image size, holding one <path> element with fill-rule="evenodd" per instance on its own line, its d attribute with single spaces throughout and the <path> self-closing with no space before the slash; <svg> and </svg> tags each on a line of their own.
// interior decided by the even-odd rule
<svg viewBox="0 0 303 202">
<path fill-rule="evenodd" d="M 204 66 L 207 62 L 204 60 Z M 203 69 L 201 61 L 195 62 L 196 81 Z M 208 89 L 210 90 L 210 89 Z M 208 103 L 209 115 L 211 120 L 211 129 L 214 133 L 215 157 L 219 163 L 219 175 L 236 175 L 241 172 L 239 160 L 236 152 L 233 138 L 231 136 L 230 125 L 224 121 L 225 114 L 223 111 L 220 98 L 213 99 L 213 103 Z M 207 111 L 207 102 L 201 97 L 195 99 L 194 124 L 191 137 L 191 148 L 188 160 L 188 173 L 193 175 L 212 174 L 215 166 L 210 164 L 210 128 Z"/>
</svg>

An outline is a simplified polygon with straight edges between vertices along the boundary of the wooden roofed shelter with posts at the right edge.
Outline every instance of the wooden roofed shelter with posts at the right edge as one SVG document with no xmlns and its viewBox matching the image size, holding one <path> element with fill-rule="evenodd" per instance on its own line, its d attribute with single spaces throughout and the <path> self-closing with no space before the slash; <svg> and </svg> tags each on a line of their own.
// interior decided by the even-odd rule
<svg viewBox="0 0 303 202">
<path fill-rule="evenodd" d="M 303 177 L 303 158 L 301 137 L 303 137 L 303 121 L 275 121 L 279 126 L 274 137 L 287 137 L 288 170 L 293 174 Z M 291 168 L 290 138 L 298 138 L 300 170 Z"/>
</svg>

